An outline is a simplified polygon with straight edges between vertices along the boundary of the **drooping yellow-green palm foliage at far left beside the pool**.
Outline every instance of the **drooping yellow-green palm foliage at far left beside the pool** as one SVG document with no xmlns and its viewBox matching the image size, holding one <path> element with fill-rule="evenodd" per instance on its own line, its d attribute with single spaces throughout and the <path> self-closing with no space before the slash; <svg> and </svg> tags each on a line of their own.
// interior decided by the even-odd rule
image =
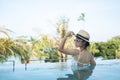
<svg viewBox="0 0 120 80">
<path fill-rule="evenodd" d="M 0 32 L 5 34 L 7 38 L 0 38 L 0 61 L 7 60 L 8 57 L 20 57 L 21 62 L 28 63 L 29 53 L 31 52 L 30 42 L 24 36 L 18 37 L 16 40 L 12 40 L 8 32 L 13 32 L 10 29 L 0 27 Z"/>
</svg>

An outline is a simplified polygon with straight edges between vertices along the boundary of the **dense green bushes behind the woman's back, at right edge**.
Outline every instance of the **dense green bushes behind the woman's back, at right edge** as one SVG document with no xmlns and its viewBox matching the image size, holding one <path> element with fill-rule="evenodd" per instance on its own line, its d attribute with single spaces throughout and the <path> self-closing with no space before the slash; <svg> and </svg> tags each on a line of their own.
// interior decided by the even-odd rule
<svg viewBox="0 0 120 80">
<path fill-rule="evenodd" d="M 94 56 L 102 56 L 104 59 L 120 58 L 120 36 L 116 36 L 107 42 L 92 42 L 89 50 Z"/>
</svg>

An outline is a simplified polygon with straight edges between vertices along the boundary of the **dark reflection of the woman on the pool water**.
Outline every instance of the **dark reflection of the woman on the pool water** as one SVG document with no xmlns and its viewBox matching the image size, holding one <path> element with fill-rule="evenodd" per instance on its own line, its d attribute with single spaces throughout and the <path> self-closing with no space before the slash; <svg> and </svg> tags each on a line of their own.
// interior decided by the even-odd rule
<svg viewBox="0 0 120 80">
<path fill-rule="evenodd" d="M 66 74 L 67 78 L 57 78 L 57 80 L 87 80 L 93 73 L 95 65 L 86 68 L 72 69 L 73 74 Z"/>
</svg>

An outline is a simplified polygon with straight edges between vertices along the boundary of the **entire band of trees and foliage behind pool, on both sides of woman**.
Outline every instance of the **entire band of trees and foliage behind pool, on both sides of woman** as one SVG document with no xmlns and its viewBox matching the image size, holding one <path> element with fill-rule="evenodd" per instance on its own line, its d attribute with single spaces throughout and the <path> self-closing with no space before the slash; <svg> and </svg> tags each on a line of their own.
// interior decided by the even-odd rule
<svg viewBox="0 0 120 80">
<path fill-rule="evenodd" d="M 81 14 L 78 21 L 84 21 L 84 13 Z M 0 62 L 7 61 L 8 57 L 19 57 L 22 63 L 28 63 L 30 58 L 45 58 L 45 62 L 57 62 L 59 58 L 66 58 L 66 55 L 58 52 L 56 46 L 58 39 L 62 39 L 68 30 L 68 18 L 62 18 L 58 21 L 56 30 L 58 32 L 57 39 L 49 35 L 40 35 L 39 39 L 28 40 L 26 36 L 20 36 L 16 40 L 12 40 L 8 35 L 9 29 L 0 28 L 0 32 L 7 35 L 8 38 L 0 38 Z M 65 47 L 75 48 L 74 37 L 68 39 Z M 104 59 L 120 59 L 120 35 L 115 36 L 107 42 L 91 42 L 88 49 L 95 57 L 102 56 Z"/>
</svg>

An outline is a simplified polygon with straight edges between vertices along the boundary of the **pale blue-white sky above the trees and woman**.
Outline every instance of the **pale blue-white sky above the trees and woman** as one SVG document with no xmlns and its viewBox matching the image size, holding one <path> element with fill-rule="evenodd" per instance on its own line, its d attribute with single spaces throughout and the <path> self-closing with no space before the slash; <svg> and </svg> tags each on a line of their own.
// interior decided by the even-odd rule
<svg viewBox="0 0 120 80">
<path fill-rule="evenodd" d="M 80 29 L 90 41 L 107 41 L 120 35 L 120 0 L 0 0 L 0 27 L 12 37 L 56 35 L 56 23 L 69 19 L 69 31 Z M 81 13 L 85 21 L 78 21 Z"/>
</svg>

